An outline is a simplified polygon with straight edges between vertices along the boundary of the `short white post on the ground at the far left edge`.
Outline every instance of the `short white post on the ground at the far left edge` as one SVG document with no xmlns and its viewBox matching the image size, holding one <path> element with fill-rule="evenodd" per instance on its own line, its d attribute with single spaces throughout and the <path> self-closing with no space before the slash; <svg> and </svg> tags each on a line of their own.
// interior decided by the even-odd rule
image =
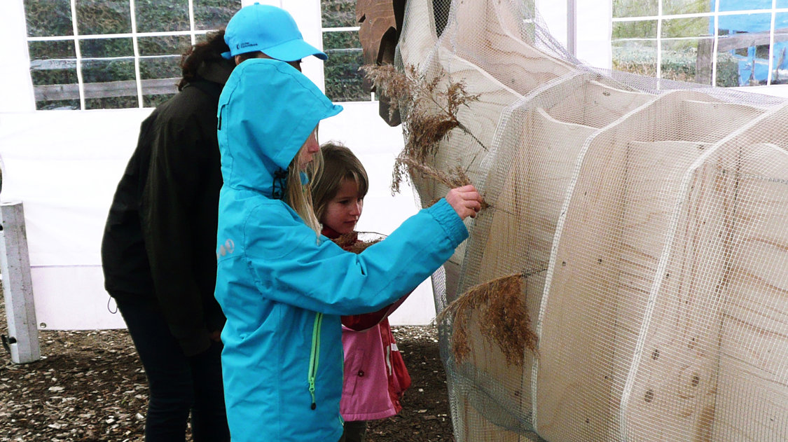
<svg viewBox="0 0 788 442">
<path fill-rule="evenodd" d="M 11 360 L 17 364 L 41 358 L 30 277 L 28 236 L 21 202 L 0 203 L 0 274 L 6 299 Z"/>
</svg>

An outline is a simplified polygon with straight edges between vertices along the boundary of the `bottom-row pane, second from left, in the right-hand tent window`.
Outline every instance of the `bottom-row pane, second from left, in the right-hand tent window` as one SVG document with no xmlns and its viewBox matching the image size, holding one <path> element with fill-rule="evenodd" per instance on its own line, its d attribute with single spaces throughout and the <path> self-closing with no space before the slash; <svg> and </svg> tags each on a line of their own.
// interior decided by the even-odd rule
<svg viewBox="0 0 788 442">
<path fill-rule="evenodd" d="M 661 78 L 711 86 L 713 44 L 713 39 L 663 40 Z"/>
</svg>

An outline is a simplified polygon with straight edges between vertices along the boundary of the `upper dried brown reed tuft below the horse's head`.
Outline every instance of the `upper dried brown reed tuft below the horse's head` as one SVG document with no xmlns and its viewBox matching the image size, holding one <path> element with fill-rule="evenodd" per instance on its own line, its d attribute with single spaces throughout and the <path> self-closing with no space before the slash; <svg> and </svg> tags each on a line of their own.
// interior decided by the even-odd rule
<svg viewBox="0 0 788 442">
<path fill-rule="evenodd" d="M 399 110 L 404 121 L 405 147 L 394 164 L 392 193 L 400 191 L 400 184 L 409 173 L 415 170 L 425 172 L 425 169 L 419 167 L 426 167 L 437 153 L 438 143 L 454 128 L 460 128 L 487 150 L 457 119 L 457 112 L 462 106 L 468 106 L 468 103 L 479 99 L 479 95 L 471 95 L 466 91 L 462 81 L 446 79 L 444 71 L 438 72 L 431 80 L 426 80 L 413 65 L 407 66 L 403 72 L 392 65 L 365 65 L 361 69 L 377 91 L 391 98 L 389 113 Z M 452 173 L 456 174 L 455 171 Z M 426 174 L 438 178 L 438 175 L 432 172 Z M 462 175 L 465 176 L 464 171 Z M 470 180 L 464 184 L 470 184 Z"/>
</svg>

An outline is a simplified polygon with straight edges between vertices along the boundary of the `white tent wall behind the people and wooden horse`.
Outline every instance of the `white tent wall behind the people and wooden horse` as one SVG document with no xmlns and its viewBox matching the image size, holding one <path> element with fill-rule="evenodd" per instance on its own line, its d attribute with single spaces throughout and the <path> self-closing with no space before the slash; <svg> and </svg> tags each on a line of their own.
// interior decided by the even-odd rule
<svg viewBox="0 0 788 442">
<path fill-rule="evenodd" d="M 305 39 L 322 46 L 318 0 L 268 3 L 290 10 Z M 538 0 L 537 8 L 566 43 L 566 2 Z M 609 69 L 611 1 L 577 2 L 577 11 L 577 57 Z M 113 304 L 103 290 L 99 246 L 117 180 L 135 147 L 139 123 L 151 110 L 35 111 L 25 33 L 23 1 L 0 2 L 0 37 L 7 50 L 0 74 L 2 200 L 24 202 L 37 320 L 47 329 L 123 327 L 120 315 L 108 309 Z M 323 85 L 319 61 L 310 59 L 303 69 Z M 359 229 L 391 232 L 416 211 L 409 189 L 394 197 L 388 191 L 393 160 L 403 147 L 401 130 L 381 121 L 376 102 L 344 106 L 321 125 L 320 137 L 346 143 L 369 172 Z M 392 324 L 426 324 L 434 314 L 431 289 L 422 284 L 392 315 Z"/>
</svg>

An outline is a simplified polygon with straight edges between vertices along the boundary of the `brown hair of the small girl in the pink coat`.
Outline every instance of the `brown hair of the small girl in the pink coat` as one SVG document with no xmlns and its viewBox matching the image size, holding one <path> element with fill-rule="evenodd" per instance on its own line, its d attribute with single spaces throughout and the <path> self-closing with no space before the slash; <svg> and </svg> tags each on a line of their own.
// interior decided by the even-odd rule
<svg viewBox="0 0 788 442">
<path fill-rule="evenodd" d="M 323 154 L 323 173 L 312 186 L 314 214 L 318 220 L 323 217 L 325 207 L 329 205 L 342 187 L 342 180 L 353 180 L 359 184 L 359 195 L 366 196 L 370 181 L 359 158 L 342 143 L 329 141 L 320 147 Z"/>
</svg>

